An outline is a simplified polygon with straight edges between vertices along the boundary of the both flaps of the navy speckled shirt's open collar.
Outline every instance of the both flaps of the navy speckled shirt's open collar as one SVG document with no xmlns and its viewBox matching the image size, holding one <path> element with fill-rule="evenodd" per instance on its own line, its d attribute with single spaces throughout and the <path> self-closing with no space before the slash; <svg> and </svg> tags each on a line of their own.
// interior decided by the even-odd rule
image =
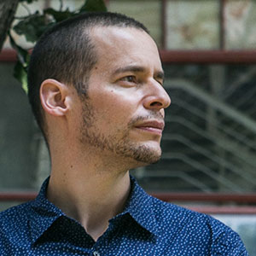
<svg viewBox="0 0 256 256">
<path fill-rule="evenodd" d="M 57 218 L 65 216 L 65 213 L 58 207 L 55 207 L 46 198 L 46 189 L 48 187 L 49 177 L 44 181 L 40 192 L 32 201 L 32 212 L 30 213 L 30 228 L 32 243 L 38 240 L 43 233 L 55 222 Z M 137 183 L 134 177 L 131 177 L 131 194 L 126 203 L 124 212 L 119 215 L 129 213 L 137 224 L 144 229 L 158 235 L 156 218 L 154 215 L 153 197 L 148 195 Z"/>
</svg>

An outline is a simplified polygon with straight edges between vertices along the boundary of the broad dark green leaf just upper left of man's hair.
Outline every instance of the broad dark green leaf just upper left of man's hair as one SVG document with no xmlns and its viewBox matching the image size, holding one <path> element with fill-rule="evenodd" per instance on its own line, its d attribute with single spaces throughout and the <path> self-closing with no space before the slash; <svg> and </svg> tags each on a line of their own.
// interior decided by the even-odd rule
<svg viewBox="0 0 256 256">
<path fill-rule="evenodd" d="M 44 15 L 35 13 L 28 16 L 25 20 L 21 20 L 14 26 L 14 30 L 19 35 L 24 35 L 28 42 L 36 42 L 43 32 L 48 28 L 49 22 L 46 21 Z"/>
</svg>

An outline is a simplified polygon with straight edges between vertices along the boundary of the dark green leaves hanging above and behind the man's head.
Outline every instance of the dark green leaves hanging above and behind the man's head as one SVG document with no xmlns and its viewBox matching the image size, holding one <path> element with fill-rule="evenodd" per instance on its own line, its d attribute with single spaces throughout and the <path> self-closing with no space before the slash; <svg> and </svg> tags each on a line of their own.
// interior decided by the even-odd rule
<svg viewBox="0 0 256 256">
<path fill-rule="evenodd" d="M 32 3 L 38 0 L 20 0 L 20 4 Z M 59 10 L 48 8 L 41 13 L 37 10 L 33 14 L 19 18 L 19 22 L 13 27 L 13 30 L 18 35 L 23 35 L 27 42 L 36 43 L 38 38 L 49 28 L 62 20 L 66 20 L 74 15 L 79 15 L 84 12 L 107 11 L 104 0 L 85 0 L 80 9 L 70 11 L 69 9 L 62 10 L 62 1 L 60 0 L 61 8 Z M 28 49 L 21 48 L 15 43 L 15 39 L 9 32 L 9 39 L 12 47 L 17 53 L 18 61 L 15 65 L 14 76 L 22 84 L 22 88 L 27 92 L 27 67 L 30 60 Z"/>
</svg>

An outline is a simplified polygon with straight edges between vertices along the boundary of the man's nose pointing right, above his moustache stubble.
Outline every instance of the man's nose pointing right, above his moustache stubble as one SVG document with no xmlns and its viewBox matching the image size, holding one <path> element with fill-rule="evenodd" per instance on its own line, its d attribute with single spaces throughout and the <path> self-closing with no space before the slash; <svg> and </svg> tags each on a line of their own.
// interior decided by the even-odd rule
<svg viewBox="0 0 256 256">
<path fill-rule="evenodd" d="M 156 82 L 148 84 L 146 96 L 144 97 L 144 108 L 150 110 L 160 110 L 161 108 L 168 108 L 171 104 L 171 98 L 167 94 L 164 87 Z"/>
</svg>

